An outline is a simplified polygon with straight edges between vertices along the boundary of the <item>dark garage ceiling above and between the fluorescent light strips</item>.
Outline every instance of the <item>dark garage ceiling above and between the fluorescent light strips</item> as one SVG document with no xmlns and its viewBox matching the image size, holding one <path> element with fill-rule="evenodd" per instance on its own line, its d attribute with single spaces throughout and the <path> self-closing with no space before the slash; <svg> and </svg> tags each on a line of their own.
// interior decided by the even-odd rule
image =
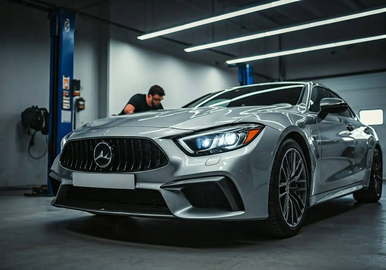
<svg viewBox="0 0 386 270">
<path fill-rule="evenodd" d="M 214 14 L 223 14 L 237 9 L 267 3 L 266 0 L 27 0 L 39 5 L 66 7 L 84 14 L 100 17 L 106 21 L 136 31 L 135 36 L 172 26 L 185 24 L 198 19 L 205 19 Z M 101 12 L 101 7 L 107 7 Z M 169 41 L 179 43 L 181 51 L 186 47 L 221 41 L 261 32 L 269 29 L 302 24 L 312 20 L 338 17 L 367 8 L 386 5 L 386 0 L 301 0 L 275 8 L 222 20 L 213 24 L 201 25 L 191 29 L 165 35 Z M 277 52 L 357 39 L 371 35 L 385 34 L 385 14 L 372 15 L 359 19 L 324 25 L 301 31 L 237 44 L 213 48 L 220 60 Z M 142 40 L 140 44 L 157 42 L 157 38 Z M 138 40 L 137 40 L 138 42 Z M 379 42 L 381 46 L 384 41 Z M 384 43 L 381 43 L 384 42 Z M 164 46 L 164 45 L 163 45 Z M 351 48 L 353 46 L 349 46 Z M 362 47 L 361 47 L 362 48 Z M 322 50 L 323 51 L 323 50 Z M 183 52 L 185 53 L 185 52 Z M 203 52 L 189 54 L 200 56 Z M 317 54 L 318 52 L 313 52 Z M 221 58 L 222 57 L 222 58 Z"/>
</svg>

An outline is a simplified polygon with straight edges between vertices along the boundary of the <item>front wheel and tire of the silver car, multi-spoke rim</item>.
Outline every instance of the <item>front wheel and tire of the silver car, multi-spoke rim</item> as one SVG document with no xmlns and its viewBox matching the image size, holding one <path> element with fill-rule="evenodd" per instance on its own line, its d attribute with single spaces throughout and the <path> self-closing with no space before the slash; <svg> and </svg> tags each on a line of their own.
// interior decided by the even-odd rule
<svg viewBox="0 0 386 270">
<path fill-rule="evenodd" d="M 271 170 L 269 216 L 256 221 L 261 233 L 285 238 L 299 232 L 308 208 L 308 179 L 306 159 L 300 145 L 291 138 L 283 140 Z"/>
</svg>

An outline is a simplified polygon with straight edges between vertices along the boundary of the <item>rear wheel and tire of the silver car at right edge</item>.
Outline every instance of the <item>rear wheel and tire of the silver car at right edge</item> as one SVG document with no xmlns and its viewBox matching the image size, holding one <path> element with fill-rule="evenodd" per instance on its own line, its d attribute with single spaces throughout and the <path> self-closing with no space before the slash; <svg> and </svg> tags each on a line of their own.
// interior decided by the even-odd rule
<svg viewBox="0 0 386 270">
<path fill-rule="evenodd" d="M 371 176 L 369 187 L 366 190 L 354 192 L 353 196 L 357 202 L 374 203 L 382 197 L 382 166 L 383 160 L 378 149 L 374 150 L 371 164 Z"/>
</svg>

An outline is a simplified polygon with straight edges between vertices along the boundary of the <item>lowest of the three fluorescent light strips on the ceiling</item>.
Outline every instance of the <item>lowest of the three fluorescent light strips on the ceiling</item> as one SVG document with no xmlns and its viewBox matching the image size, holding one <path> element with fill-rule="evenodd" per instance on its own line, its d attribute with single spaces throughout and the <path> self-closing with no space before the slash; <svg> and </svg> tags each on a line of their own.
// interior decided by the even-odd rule
<svg viewBox="0 0 386 270">
<path fill-rule="evenodd" d="M 262 55 L 251 56 L 251 57 L 244 57 L 244 58 L 239 58 L 239 59 L 234 59 L 234 60 L 228 60 L 226 62 L 227 62 L 227 64 L 236 64 L 236 63 L 242 63 L 242 62 L 247 62 L 247 61 L 255 61 L 255 60 L 259 60 L 259 59 L 284 56 L 284 55 L 288 55 L 288 54 L 297 54 L 300 52 L 316 51 L 316 50 L 320 50 L 320 49 L 333 48 L 333 47 L 338 47 L 338 46 L 350 45 L 350 44 L 361 43 L 361 42 L 366 42 L 366 41 L 371 41 L 371 40 L 385 39 L 385 38 L 386 38 L 386 35 L 377 35 L 375 37 L 366 37 L 363 39 L 354 39 L 354 40 L 335 42 L 335 43 L 330 43 L 330 44 L 325 44 L 325 45 L 307 47 L 307 48 L 302 48 L 302 49 L 295 49 L 295 50 L 290 50 L 290 51 L 274 52 L 271 54 L 262 54 Z"/>
</svg>

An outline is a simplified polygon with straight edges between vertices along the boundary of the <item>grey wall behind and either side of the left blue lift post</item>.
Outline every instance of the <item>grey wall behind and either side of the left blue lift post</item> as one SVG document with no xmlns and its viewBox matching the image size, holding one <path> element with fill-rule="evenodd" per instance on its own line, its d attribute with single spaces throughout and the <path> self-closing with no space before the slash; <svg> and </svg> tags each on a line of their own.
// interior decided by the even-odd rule
<svg viewBox="0 0 386 270">
<path fill-rule="evenodd" d="M 12 15 L 11 15 L 12 14 Z M 97 118 L 98 68 L 93 27 L 77 17 L 74 77 L 81 79 L 86 110 L 78 123 Z M 0 2 L 0 187 L 31 186 L 47 181 L 47 156 L 27 153 L 30 137 L 22 133 L 20 113 L 27 107 L 49 106 L 50 39 L 47 14 L 14 3 Z M 40 156 L 46 139 L 37 134 L 31 154 Z"/>
</svg>

